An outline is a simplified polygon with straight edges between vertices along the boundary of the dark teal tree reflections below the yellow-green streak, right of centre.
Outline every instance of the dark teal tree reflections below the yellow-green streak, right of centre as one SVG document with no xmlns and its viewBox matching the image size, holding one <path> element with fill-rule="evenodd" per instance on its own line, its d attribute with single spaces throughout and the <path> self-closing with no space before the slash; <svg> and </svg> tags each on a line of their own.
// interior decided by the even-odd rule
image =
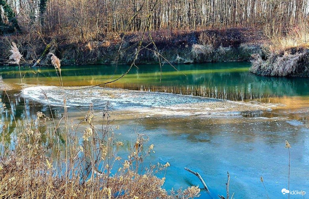
<svg viewBox="0 0 309 199">
<path fill-rule="evenodd" d="M 267 99 L 270 97 L 308 95 L 305 89 L 309 85 L 308 79 L 260 77 L 251 74 L 242 74 L 238 77 L 228 78 L 217 75 L 194 79 L 194 83 L 181 84 L 171 83 L 170 85 L 160 84 L 123 84 L 122 88 L 168 92 L 183 95 L 195 95 L 228 100 Z M 226 79 L 229 79 L 227 81 Z M 237 79 L 237 80 L 236 80 Z M 240 79 L 240 81 L 239 81 Z M 242 80 L 241 80 L 242 79 Z M 109 85 L 119 87 L 119 85 Z"/>
</svg>

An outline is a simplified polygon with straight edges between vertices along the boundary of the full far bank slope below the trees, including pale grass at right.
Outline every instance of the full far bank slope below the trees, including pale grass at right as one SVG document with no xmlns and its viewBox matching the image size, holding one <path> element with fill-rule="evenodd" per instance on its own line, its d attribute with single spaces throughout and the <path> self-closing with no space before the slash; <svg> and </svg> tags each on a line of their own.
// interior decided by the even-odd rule
<svg viewBox="0 0 309 199">
<path fill-rule="evenodd" d="M 21 64 L 26 66 L 50 65 L 47 53 L 52 52 L 61 59 L 62 65 L 131 64 L 133 60 L 135 64 L 251 61 L 249 71 L 257 75 L 308 77 L 307 32 L 306 26 L 299 25 L 280 34 L 271 26 L 264 29 L 156 30 L 144 36 L 138 31 L 108 33 L 88 41 L 74 41 L 66 35 L 44 38 L 8 35 L 2 36 L 0 41 L 3 55 L 0 62 L 9 63 L 8 46 L 14 41 L 22 51 Z M 141 50 L 138 51 L 140 41 Z"/>
</svg>

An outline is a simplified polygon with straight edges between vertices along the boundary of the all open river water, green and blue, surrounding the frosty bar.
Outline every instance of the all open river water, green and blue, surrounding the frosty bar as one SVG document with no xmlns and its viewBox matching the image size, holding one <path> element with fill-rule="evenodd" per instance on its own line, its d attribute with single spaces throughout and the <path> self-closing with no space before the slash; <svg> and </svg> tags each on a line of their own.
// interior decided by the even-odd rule
<svg viewBox="0 0 309 199">
<path fill-rule="evenodd" d="M 167 161 L 171 164 L 164 185 L 166 189 L 201 185 L 197 177 L 184 170 L 184 167 L 188 167 L 199 172 L 210 189 L 211 195 L 202 191 L 201 198 L 216 198 L 217 194 L 226 194 L 227 171 L 231 174 L 230 192 L 235 192 L 235 198 L 266 197 L 260 176 L 265 180 L 270 198 L 284 198 L 281 189 L 287 189 L 288 171 L 288 151 L 284 146 L 285 140 L 289 140 L 292 145 L 290 189 L 309 193 L 309 79 L 256 76 L 248 72 L 249 66 L 250 63 L 246 62 L 176 65 L 182 74 L 164 65 L 160 82 L 159 65 L 140 65 L 132 68 L 124 78 L 107 85 L 129 90 L 285 105 L 274 106 L 271 112 L 253 116 L 150 115 L 142 111 L 147 104 L 141 106 L 138 112 L 121 109 L 113 112 L 114 123 L 121 127 L 121 140 L 131 140 L 134 135 L 132 128 L 137 124 L 139 132 L 150 136 L 156 153 L 149 156 L 145 164 L 165 164 Z M 127 69 L 126 65 L 118 65 L 112 79 Z M 64 85 L 87 86 L 111 78 L 115 66 L 63 66 L 61 70 Z M 15 118 L 22 123 L 25 112 L 18 84 L 19 71 L 2 67 L 0 74 L 4 83 L 12 88 L 8 95 Z M 28 86 L 59 85 L 52 67 L 24 69 L 22 76 L 23 83 Z M 4 93 L 0 94 L 8 106 Z M 130 94 L 133 95 L 133 92 Z M 51 116 L 49 107 L 43 102 L 26 97 L 26 103 L 27 114 L 33 119 L 37 111 Z M 87 107 L 79 109 L 87 111 Z M 52 106 L 52 112 L 56 119 L 61 117 L 60 107 Z M 73 112 L 75 118 L 84 116 L 74 107 L 69 108 L 69 112 Z M 1 120 L 7 123 L 4 136 L 8 141 L 15 133 L 13 117 L 6 112 L 1 115 Z"/>
</svg>

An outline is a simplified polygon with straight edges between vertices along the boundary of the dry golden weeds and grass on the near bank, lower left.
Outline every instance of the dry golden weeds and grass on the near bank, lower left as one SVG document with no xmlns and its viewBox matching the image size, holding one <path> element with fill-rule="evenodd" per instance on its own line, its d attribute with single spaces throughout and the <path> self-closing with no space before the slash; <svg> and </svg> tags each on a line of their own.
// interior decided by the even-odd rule
<svg viewBox="0 0 309 199">
<path fill-rule="evenodd" d="M 108 104 L 107 104 L 108 106 Z M 126 146 L 128 157 L 117 153 L 124 143 L 117 141 L 119 126 L 112 126 L 108 107 L 104 111 L 104 128 L 93 125 L 90 110 L 84 121 L 49 128 L 49 119 L 41 112 L 27 127 L 19 129 L 14 150 L 2 140 L 0 161 L 1 198 L 193 198 L 196 186 L 170 191 L 162 188 L 165 165 L 143 167 L 146 156 L 153 153 L 146 135 Z M 78 136 L 78 125 L 86 124 Z M 70 128 L 69 128 L 70 127 Z M 6 130 L 2 124 L 2 135 Z"/>
</svg>

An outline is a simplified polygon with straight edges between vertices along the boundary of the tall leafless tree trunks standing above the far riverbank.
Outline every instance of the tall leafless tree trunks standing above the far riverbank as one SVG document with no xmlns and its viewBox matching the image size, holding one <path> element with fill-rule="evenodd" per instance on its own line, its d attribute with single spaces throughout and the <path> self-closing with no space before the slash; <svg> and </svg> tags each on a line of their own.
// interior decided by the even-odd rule
<svg viewBox="0 0 309 199">
<path fill-rule="evenodd" d="M 201 30 L 297 24 L 307 17 L 307 0 L 1 0 L 3 33 L 21 32 L 98 38 L 110 32 Z M 150 10 L 153 9 L 153 12 Z M 132 23 L 131 23 L 132 21 Z"/>
</svg>

